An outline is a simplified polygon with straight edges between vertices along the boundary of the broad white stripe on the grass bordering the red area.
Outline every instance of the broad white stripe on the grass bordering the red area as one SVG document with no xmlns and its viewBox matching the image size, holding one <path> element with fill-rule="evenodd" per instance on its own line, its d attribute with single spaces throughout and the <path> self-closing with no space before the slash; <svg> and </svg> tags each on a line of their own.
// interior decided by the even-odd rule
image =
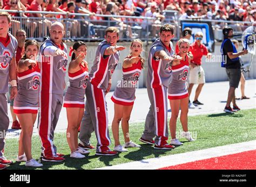
<svg viewBox="0 0 256 187">
<path fill-rule="evenodd" d="M 255 149 L 256 149 L 256 140 L 253 140 L 253 141 L 247 141 L 247 142 L 241 142 L 241 143 L 234 143 L 226 146 L 212 147 L 212 148 L 203 149 L 203 150 L 196 150 L 193 152 L 162 156 L 162 157 L 153 158 L 153 159 L 123 163 L 123 164 L 118 164 L 116 166 L 109 166 L 109 167 L 96 168 L 96 169 L 159 169 L 159 168 L 174 166 L 177 164 L 210 159 L 212 157 L 241 153 L 241 152 L 245 152 L 248 150 L 255 150 Z M 175 151 L 175 149 L 172 149 L 170 151 L 173 152 Z M 153 147 L 152 147 L 152 152 L 154 152 Z"/>
</svg>

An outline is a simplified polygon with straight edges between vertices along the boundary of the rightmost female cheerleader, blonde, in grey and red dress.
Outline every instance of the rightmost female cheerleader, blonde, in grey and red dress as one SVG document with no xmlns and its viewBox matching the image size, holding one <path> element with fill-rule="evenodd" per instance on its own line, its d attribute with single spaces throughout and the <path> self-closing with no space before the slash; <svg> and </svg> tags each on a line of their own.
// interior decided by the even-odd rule
<svg viewBox="0 0 256 187">
<path fill-rule="evenodd" d="M 172 116 L 170 120 L 171 131 L 171 145 L 183 145 L 176 138 L 176 124 L 179 115 L 179 109 L 181 110 L 180 122 L 183 128 L 181 136 L 188 141 L 194 141 L 187 128 L 187 113 L 188 113 L 188 91 L 186 87 L 187 74 L 190 64 L 190 56 L 187 55 L 190 48 L 190 42 L 187 39 L 180 39 L 178 41 L 179 53 L 182 57 L 180 64 L 172 66 L 171 83 L 168 88 L 168 98 L 170 99 L 170 105 L 172 110 Z"/>
</svg>

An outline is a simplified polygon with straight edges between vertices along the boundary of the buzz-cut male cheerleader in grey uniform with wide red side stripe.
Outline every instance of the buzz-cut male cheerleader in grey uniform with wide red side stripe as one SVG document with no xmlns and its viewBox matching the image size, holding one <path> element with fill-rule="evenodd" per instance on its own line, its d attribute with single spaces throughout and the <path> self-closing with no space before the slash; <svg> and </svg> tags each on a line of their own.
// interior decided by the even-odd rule
<svg viewBox="0 0 256 187">
<path fill-rule="evenodd" d="M 54 130 L 62 109 L 66 65 L 68 63 L 66 45 L 62 42 L 64 34 L 63 24 L 53 23 L 50 38 L 46 39 L 40 47 L 42 84 L 39 95 L 38 131 L 43 149 L 42 160 L 50 162 L 65 160 L 64 155 L 58 154 L 56 146 L 53 145 Z"/>
</svg>

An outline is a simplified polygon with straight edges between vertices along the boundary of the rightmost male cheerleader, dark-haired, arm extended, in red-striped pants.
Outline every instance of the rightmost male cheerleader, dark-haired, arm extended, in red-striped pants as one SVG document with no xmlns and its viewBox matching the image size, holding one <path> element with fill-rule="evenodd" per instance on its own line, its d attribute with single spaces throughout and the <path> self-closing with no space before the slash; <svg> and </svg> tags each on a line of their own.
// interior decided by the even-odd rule
<svg viewBox="0 0 256 187">
<path fill-rule="evenodd" d="M 181 59 L 172 57 L 173 29 L 174 26 L 170 24 L 161 26 L 160 38 L 154 41 L 149 52 L 146 85 L 151 106 L 147 113 L 145 130 L 139 140 L 154 145 L 155 149 L 174 148 L 167 143 L 167 88 L 170 83 L 172 64 L 179 64 Z M 156 136 L 155 140 L 153 140 L 154 136 Z"/>
</svg>

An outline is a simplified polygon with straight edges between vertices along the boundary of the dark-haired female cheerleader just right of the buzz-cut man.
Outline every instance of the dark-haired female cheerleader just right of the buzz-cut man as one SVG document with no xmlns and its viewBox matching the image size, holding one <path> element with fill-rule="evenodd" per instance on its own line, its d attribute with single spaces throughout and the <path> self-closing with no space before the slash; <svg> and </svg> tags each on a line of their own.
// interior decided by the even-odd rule
<svg viewBox="0 0 256 187">
<path fill-rule="evenodd" d="M 71 62 L 69 64 L 69 82 L 70 85 L 64 97 L 64 107 L 66 107 L 66 116 L 68 118 L 68 129 L 66 130 L 66 139 L 71 150 L 70 157 L 82 159 L 83 154 L 90 153 L 78 147 L 78 127 L 84 114 L 84 95 L 88 81 L 88 65 L 84 60 L 86 56 L 86 45 L 82 41 L 75 42 L 70 51 Z"/>
</svg>

